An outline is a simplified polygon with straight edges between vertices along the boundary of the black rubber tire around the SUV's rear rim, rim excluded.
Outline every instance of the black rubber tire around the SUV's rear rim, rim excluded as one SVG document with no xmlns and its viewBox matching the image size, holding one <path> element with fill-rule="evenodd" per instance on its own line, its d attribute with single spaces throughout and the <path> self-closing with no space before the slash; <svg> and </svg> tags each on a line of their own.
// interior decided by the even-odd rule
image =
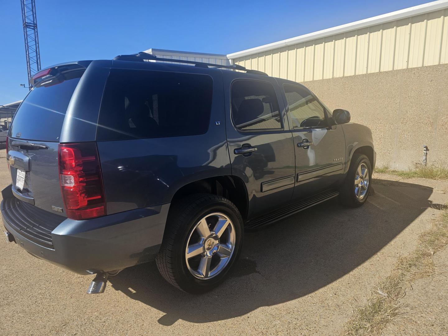
<svg viewBox="0 0 448 336">
<path fill-rule="evenodd" d="M 207 214 L 220 212 L 227 215 L 235 228 L 233 254 L 220 273 L 211 279 L 198 279 L 191 274 L 185 261 L 185 249 L 194 227 Z M 235 265 L 243 240 L 243 220 L 237 207 L 227 198 L 212 194 L 190 195 L 178 204 L 172 205 L 168 214 L 164 239 L 156 256 L 160 274 L 170 284 L 187 293 L 206 293 L 224 281 Z"/>
</svg>

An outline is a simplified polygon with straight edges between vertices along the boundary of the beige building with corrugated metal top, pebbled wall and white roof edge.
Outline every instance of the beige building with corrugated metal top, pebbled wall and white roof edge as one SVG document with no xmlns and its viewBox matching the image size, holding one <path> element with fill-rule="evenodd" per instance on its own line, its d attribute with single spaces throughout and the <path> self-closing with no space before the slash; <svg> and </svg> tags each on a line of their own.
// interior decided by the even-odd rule
<svg viewBox="0 0 448 336">
<path fill-rule="evenodd" d="M 379 167 L 414 168 L 423 145 L 429 163 L 448 163 L 447 0 L 227 56 L 349 110 L 372 129 Z"/>
</svg>

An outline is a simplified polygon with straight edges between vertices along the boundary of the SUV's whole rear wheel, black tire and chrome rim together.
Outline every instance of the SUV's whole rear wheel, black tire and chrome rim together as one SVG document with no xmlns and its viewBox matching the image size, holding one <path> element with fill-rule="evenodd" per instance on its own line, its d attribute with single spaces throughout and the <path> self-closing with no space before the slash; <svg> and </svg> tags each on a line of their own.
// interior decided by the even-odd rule
<svg viewBox="0 0 448 336">
<path fill-rule="evenodd" d="M 188 293 L 205 293 L 233 267 L 243 237 L 237 207 L 227 198 L 192 195 L 173 204 L 156 257 L 160 274 Z"/>
</svg>

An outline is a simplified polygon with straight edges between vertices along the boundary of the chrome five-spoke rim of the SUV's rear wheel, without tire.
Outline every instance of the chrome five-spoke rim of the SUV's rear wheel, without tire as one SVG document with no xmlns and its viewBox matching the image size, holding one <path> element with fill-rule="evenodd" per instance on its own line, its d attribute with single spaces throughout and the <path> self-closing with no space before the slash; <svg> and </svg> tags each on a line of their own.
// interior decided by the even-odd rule
<svg viewBox="0 0 448 336">
<path fill-rule="evenodd" d="M 185 261 L 190 273 L 201 280 L 220 274 L 235 249 L 235 228 L 227 215 L 214 212 L 203 217 L 188 237 Z"/>
</svg>

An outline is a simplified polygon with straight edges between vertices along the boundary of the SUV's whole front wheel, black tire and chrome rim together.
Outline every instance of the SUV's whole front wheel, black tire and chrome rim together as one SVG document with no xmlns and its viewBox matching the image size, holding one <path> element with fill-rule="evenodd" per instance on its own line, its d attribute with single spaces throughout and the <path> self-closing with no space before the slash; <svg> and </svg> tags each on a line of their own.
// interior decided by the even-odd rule
<svg viewBox="0 0 448 336">
<path fill-rule="evenodd" d="M 344 184 L 340 189 L 340 200 L 349 207 L 360 207 L 367 201 L 371 188 L 372 167 L 364 154 L 354 154 Z"/>
</svg>

